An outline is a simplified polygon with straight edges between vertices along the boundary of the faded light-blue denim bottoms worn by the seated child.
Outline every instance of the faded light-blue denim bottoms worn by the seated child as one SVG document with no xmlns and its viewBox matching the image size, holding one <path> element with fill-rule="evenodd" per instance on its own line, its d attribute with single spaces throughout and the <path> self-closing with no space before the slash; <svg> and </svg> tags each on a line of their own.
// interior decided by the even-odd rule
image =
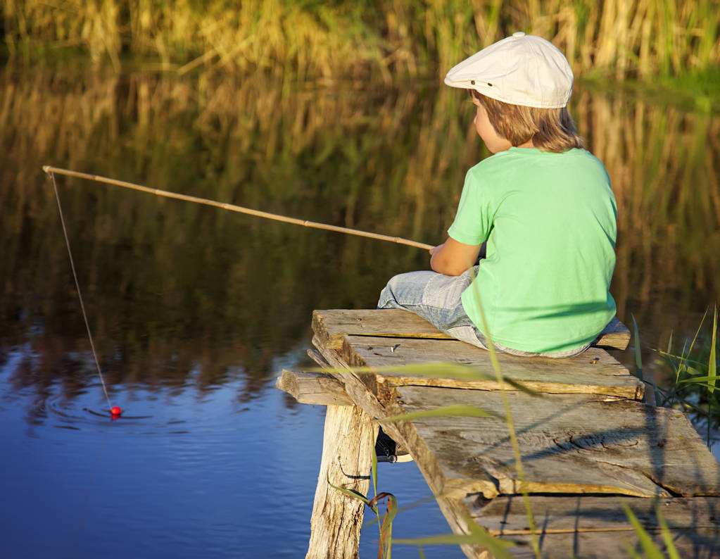
<svg viewBox="0 0 720 559">
<path fill-rule="evenodd" d="M 472 273 L 474 270 L 474 273 Z M 477 276 L 478 267 L 468 269 L 459 276 L 445 276 L 436 272 L 408 272 L 392 278 L 380 293 L 377 308 L 402 308 L 410 310 L 439 331 L 454 339 L 466 341 L 482 349 L 487 349 L 487 340 L 478 330 L 462 308 L 462 292 Z M 472 274 L 471 274 L 472 273 Z M 533 353 L 505 347 L 498 343 L 495 349 L 500 352 L 523 357 L 572 357 L 590 347 L 590 344 L 566 352 Z"/>
</svg>

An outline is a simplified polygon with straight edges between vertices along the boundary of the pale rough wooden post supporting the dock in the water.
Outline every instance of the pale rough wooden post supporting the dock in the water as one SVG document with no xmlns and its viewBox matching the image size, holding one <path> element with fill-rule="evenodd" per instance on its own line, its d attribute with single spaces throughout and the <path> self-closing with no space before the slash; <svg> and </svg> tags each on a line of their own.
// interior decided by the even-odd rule
<svg viewBox="0 0 720 559">
<path fill-rule="evenodd" d="M 365 504 L 328 485 L 366 495 L 377 425 L 358 406 L 327 406 L 323 457 L 306 559 L 355 559 Z"/>
</svg>

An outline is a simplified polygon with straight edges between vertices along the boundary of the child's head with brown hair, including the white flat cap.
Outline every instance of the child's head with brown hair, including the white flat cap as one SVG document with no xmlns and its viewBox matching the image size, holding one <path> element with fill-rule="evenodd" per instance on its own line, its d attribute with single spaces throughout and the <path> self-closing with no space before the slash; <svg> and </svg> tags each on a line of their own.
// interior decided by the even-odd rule
<svg viewBox="0 0 720 559">
<path fill-rule="evenodd" d="M 583 147 L 566 107 L 572 70 L 541 37 L 506 37 L 452 68 L 445 83 L 470 90 L 475 129 L 492 153 L 510 146 L 557 152 Z"/>
</svg>

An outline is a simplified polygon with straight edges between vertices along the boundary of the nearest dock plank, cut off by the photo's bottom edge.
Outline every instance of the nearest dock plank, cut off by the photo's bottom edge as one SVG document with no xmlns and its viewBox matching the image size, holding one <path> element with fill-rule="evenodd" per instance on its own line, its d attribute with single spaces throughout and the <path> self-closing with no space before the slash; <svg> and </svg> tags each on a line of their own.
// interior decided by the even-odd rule
<svg viewBox="0 0 720 559">
<path fill-rule="evenodd" d="M 665 542 L 660 532 L 651 532 L 650 537 L 660 547 L 664 557 Z M 535 559 L 529 536 L 506 536 L 525 545 L 511 547 L 510 555 L 517 559 Z M 717 559 L 718 529 L 678 530 L 672 535 L 672 542 L 683 559 Z M 642 547 L 634 532 L 580 532 L 574 534 L 544 534 L 539 538 L 542 559 L 608 559 L 629 557 L 629 549 L 644 557 Z"/>
</svg>

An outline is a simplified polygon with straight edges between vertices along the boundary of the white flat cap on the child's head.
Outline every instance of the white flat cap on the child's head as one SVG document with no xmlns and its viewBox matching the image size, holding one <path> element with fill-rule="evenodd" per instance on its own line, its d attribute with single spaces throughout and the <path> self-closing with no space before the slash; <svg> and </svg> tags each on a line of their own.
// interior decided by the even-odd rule
<svg viewBox="0 0 720 559">
<path fill-rule="evenodd" d="M 554 109 L 570 101 L 572 70 L 555 45 L 517 32 L 466 58 L 445 83 L 505 103 Z"/>
</svg>

